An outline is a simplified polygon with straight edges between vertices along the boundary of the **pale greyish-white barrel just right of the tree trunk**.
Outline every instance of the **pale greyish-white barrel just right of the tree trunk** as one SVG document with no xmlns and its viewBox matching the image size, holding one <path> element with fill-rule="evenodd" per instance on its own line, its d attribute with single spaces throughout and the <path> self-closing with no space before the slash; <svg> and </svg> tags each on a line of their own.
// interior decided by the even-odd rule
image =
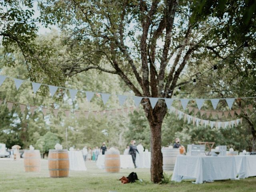
<svg viewBox="0 0 256 192">
<path fill-rule="evenodd" d="M 163 170 L 173 170 L 177 156 L 180 154 L 180 149 L 162 148 L 163 154 Z"/>
</svg>

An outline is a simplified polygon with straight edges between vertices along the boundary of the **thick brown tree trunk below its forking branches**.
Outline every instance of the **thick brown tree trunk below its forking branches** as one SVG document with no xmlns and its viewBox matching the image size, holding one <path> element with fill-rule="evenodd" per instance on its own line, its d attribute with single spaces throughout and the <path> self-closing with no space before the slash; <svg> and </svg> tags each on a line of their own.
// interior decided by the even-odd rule
<svg viewBox="0 0 256 192">
<path fill-rule="evenodd" d="M 151 181 L 154 183 L 159 183 L 163 178 L 161 129 L 167 108 L 163 100 L 158 100 L 158 104 L 155 106 L 154 110 L 152 110 L 149 102 L 147 106 L 144 106 L 144 110 L 150 125 Z"/>
</svg>

